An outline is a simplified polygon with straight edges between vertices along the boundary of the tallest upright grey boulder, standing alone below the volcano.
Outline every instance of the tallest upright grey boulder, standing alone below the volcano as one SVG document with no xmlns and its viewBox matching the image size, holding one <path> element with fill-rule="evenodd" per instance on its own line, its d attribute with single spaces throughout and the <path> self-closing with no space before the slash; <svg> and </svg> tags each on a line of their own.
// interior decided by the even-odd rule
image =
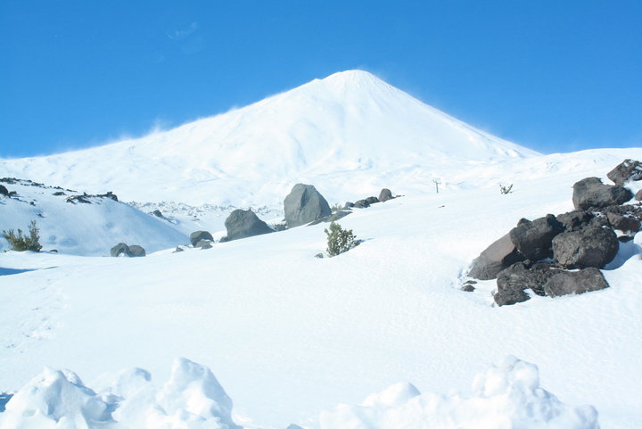
<svg viewBox="0 0 642 429">
<path fill-rule="evenodd" d="M 314 186 L 300 183 L 285 197 L 284 212 L 288 227 L 299 227 L 332 214 L 330 205 Z"/>
</svg>

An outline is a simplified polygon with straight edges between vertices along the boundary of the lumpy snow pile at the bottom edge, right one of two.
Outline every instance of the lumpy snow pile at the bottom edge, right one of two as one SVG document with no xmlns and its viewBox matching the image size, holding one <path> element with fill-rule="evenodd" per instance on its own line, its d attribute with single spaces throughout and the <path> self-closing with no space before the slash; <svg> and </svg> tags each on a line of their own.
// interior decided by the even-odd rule
<svg viewBox="0 0 642 429">
<path fill-rule="evenodd" d="M 469 398 L 394 384 L 358 406 L 321 414 L 322 429 L 597 429 L 597 410 L 564 405 L 539 387 L 538 367 L 514 357 L 480 374 Z"/>
</svg>

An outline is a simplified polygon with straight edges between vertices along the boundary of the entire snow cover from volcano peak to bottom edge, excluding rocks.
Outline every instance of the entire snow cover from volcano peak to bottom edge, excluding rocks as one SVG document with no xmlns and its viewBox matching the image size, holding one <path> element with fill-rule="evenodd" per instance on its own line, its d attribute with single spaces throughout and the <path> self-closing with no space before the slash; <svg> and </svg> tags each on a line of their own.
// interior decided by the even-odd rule
<svg viewBox="0 0 642 429">
<path fill-rule="evenodd" d="M 0 392 L 24 386 L 0 427 L 40 406 L 64 411 L 64 425 L 89 416 L 110 427 L 117 404 L 113 417 L 130 427 L 199 416 L 210 427 L 230 409 L 218 382 L 249 428 L 531 428 L 539 418 L 587 429 L 593 408 L 573 408 L 584 404 L 602 429 L 642 427 L 642 235 L 621 245 L 603 291 L 498 308 L 492 281 L 459 290 L 471 261 L 519 219 L 572 210 L 573 183 L 605 179 L 626 158 L 642 160 L 642 148 L 540 155 L 349 71 L 143 138 L 0 160 L 0 177 L 133 201 L 74 205 L 52 188 L 6 185 L 18 195 L 0 199 L 0 227 L 35 219 L 45 250 L 60 253 L 0 253 Z M 172 252 L 196 229 L 224 235 L 235 207 L 277 222 L 299 182 L 331 204 L 382 187 L 405 196 L 342 219 L 363 243 L 332 259 L 315 258 L 326 224 Z M 163 218 L 148 214 L 157 209 Z M 151 254 L 97 257 L 119 242 Z M 534 367 L 508 355 L 537 365 L 540 386 Z M 149 373 L 120 372 L 131 367 Z M 136 386 L 143 396 L 119 402 Z M 71 399 L 56 402 L 58 388 Z M 408 421 L 425 413 L 438 424 Z M 507 416 L 518 416 L 513 426 Z M 495 425 L 467 423 L 486 418 Z"/>
</svg>

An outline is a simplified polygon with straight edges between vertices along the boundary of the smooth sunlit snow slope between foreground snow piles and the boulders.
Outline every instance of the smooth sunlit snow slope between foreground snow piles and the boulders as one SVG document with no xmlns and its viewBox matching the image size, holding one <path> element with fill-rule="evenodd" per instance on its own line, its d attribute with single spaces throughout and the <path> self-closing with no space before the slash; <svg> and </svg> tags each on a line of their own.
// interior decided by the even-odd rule
<svg viewBox="0 0 642 429">
<path fill-rule="evenodd" d="M 514 355 L 559 400 L 596 407 L 603 429 L 642 427 L 639 236 L 605 270 L 604 291 L 497 308 L 493 282 L 458 290 L 518 219 L 572 210 L 576 180 L 641 152 L 506 163 L 512 194 L 462 186 L 356 210 L 341 223 L 365 241 L 333 259 L 314 258 L 325 225 L 144 259 L 1 254 L 0 266 L 25 272 L 0 277 L 0 390 L 44 365 L 92 386 L 144 367 L 160 386 L 185 356 L 217 375 L 238 424 L 317 427 L 319 411 L 398 382 L 469 392 L 475 374 Z"/>
</svg>

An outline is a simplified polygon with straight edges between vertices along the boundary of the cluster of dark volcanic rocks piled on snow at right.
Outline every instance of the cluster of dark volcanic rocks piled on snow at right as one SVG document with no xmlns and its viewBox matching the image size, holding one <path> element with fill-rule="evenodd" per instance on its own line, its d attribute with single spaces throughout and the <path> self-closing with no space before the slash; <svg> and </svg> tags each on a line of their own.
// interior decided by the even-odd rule
<svg viewBox="0 0 642 429">
<path fill-rule="evenodd" d="M 631 240 L 640 228 L 642 207 L 625 204 L 634 195 L 623 185 L 642 179 L 642 163 L 625 160 L 607 177 L 614 186 L 597 177 L 573 185 L 575 210 L 532 221 L 521 219 L 481 252 L 468 276 L 497 278 L 494 298 L 500 306 L 527 301 L 527 289 L 555 297 L 608 287 L 599 268 L 611 262 L 620 243 Z M 635 198 L 641 200 L 642 193 Z M 473 291 L 473 285 L 473 281 L 466 282 L 463 289 Z"/>
</svg>

